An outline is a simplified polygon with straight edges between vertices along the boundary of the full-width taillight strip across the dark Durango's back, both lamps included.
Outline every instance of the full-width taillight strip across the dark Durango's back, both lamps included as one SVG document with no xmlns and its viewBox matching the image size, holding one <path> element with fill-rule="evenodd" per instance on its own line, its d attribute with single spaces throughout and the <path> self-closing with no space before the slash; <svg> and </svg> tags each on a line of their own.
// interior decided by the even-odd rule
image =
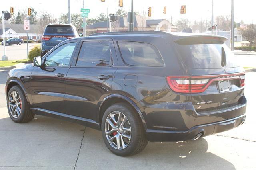
<svg viewBox="0 0 256 170">
<path fill-rule="evenodd" d="M 168 76 L 166 80 L 174 92 L 178 93 L 202 93 L 214 81 L 240 80 L 240 87 L 244 86 L 245 73 L 223 74 L 214 76 Z"/>
</svg>

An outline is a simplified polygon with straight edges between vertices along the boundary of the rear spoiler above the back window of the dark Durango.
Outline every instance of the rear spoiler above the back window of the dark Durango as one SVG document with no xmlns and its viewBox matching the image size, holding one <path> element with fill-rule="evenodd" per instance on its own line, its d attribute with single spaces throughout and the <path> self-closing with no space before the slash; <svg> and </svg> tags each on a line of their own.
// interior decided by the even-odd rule
<svg viewBox="0 0 256 170">
<path fill-rule="evenodd" d="M 223 44 L 228 40 L 226 37 L 213 35 L 175 36 L 173 39 L 174 42 L 179 45 Z"/>
</svg>

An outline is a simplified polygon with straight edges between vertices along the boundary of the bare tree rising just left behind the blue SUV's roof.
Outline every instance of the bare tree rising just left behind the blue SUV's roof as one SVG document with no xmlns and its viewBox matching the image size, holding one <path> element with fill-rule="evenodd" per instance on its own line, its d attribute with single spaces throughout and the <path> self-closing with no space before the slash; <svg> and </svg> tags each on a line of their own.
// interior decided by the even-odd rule
<svg viewBox="0 0 256 170">
<path fill-rule="evenodd" d="M 43 12 L 38 17 L 38 33 L 43 33 L 46 25 L 49 23 L 56 23 L 57 19 L 54 18 L 51 14 L 48 14 L 47 12 Z"/>
</svg>

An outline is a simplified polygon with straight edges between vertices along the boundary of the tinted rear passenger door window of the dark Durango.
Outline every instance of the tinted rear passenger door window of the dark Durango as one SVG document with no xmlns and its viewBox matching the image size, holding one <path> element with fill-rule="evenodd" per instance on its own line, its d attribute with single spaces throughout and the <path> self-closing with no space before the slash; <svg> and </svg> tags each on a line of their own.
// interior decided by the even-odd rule
<svg viewBox="0 0 256 170">
<path fill-rule="evenodd" d="M 85 41 L 80 49 L 76 66 L 111 66 L 108 41 Z"/>
</svg>

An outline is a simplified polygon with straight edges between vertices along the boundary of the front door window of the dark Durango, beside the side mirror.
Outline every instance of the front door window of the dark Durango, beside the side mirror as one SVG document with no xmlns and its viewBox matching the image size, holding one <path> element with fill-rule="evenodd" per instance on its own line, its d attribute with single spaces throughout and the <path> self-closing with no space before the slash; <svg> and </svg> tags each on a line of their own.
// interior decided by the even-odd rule
<svg viewBox="0 0 256 170">
<path fill-rule="evenodd" d="M 45 66 L 68 66 L 75 47 L 76 42 L 58 47 L 46 57 Z"/>
</svg>

